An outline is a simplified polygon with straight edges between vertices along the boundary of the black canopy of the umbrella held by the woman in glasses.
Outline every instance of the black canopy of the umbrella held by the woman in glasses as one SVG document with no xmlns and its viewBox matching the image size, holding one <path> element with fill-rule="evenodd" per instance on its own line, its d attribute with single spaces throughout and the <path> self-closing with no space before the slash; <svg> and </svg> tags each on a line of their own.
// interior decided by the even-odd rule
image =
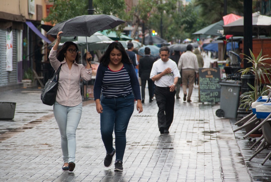
<svg viewBox="0 0 271 182">
<path fill-rule="evenodd" d="M 99 30 L 113 29 L 122 23 L 125 21 L 112 15 L 82 15 L 57 23 L 46 34 L 58 35 L 58 32 L 62 31 L 61 36 L 90 37 Z"/>
</svg>

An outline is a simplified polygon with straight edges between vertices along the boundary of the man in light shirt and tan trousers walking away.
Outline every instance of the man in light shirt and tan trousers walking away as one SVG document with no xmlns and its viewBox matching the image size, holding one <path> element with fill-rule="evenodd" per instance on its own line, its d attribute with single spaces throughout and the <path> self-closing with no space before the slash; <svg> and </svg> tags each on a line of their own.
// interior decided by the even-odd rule
<svg viewBox="0 0 271 182">
<path fill-rule="evenodd" d="M 192 52 L 193 46 L 191 44 L 186 46 L 186 52 L 180 57 L 178 63 L 178 69 L 182 69 L 182 91 L 183 91 L 183 101 L 186 101 L 187 96 L 187 84 L 188 84 L 188 96 L 187 102 L 191 102 L 191 95 L 193 91 L 193 85 L 195 82 L 195 72 L 196 77 L 198 77 L 198 59 L 196 54 Z"/>
</svg>

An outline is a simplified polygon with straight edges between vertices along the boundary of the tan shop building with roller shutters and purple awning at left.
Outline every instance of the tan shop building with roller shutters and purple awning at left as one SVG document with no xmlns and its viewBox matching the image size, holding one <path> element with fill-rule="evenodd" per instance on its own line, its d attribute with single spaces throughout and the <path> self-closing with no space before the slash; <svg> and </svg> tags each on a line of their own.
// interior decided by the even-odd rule
<svg viewBox="0 0 271 182">
<path fill-rule="evenodd" d="M 20 88 L 24 72 L 35 70 L 35 46 L 51 42 L 40 28 L 45 7 L 44 0 L 1 1 L 0 91 Z"/>
</svg>

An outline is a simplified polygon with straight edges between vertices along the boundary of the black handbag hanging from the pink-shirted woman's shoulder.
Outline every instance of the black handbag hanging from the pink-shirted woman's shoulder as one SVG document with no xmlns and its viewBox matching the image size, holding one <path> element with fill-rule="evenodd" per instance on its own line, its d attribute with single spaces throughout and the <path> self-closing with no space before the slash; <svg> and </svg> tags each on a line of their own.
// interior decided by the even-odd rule
<svg viewBox="0 0 271 182">
<path fill-rule="evenodd" d="M 55 98 L 58 91 L 58 79 L 61 66 L 62 64 L 59 66 L 54 76 L 47 81 L 42 90 L 42 94 L 40 95 L 42 103 L 46 105 L 52 106 L 55 103 Z"/>
</svg>

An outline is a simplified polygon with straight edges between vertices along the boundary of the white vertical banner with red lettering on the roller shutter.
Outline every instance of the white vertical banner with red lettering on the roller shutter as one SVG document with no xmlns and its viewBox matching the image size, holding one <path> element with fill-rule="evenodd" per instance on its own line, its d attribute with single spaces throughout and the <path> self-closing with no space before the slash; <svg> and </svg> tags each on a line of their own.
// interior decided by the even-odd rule
<svg viewBox="0 0 271 182">
<path fill-rule="evenodd" d="M 10 32 L 6 31 L 6 60 L 7 60 L 7 71 L 12 71 L 12 50 L 13 50 L 13 35 L 12 30 Z"/>
</svg>

